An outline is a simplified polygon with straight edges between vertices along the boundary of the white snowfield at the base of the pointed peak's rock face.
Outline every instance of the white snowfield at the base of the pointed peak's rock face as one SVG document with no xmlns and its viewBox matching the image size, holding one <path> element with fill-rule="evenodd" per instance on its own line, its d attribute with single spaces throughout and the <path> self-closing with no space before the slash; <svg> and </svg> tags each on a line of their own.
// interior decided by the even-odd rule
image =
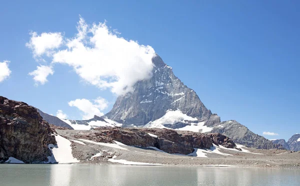
<svg viewBox="0 0 300 186">
<path fill-rule="evenodd" d="M 163 124 L 175 124 L 177 122 L 186 123 L 186 120 L 195 121 L 195 120 L 197 120 L 197 118 L 188 116 L 188 115 L 182 113 L 179 109 L 167 110 L 166 113 L 162 117 L 160 117 L 154 121 L 148 122 L 143 127 L 145 127 L 145 128 L 166 128 L 165 126 L 163 126 Z"/>
</svg>

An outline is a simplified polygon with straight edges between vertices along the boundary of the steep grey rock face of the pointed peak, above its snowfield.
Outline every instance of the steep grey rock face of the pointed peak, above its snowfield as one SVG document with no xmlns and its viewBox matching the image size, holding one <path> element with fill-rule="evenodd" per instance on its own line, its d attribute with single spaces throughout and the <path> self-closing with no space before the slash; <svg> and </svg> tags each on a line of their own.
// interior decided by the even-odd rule
<svg viewBox="0 0 300 186">
<path fill-rule="evenodd" d="M 143 126 L 162 117 L 167 110 L 179 109 L 188 116 L 207 120 L 211 111 L 197 94 L 184 85 L 158 55 L 152 61 L 155 65 L 152 77 L 137 82 L 133 92 L 119 96 L 105 116 L 123 126 Z"/>
</svg>

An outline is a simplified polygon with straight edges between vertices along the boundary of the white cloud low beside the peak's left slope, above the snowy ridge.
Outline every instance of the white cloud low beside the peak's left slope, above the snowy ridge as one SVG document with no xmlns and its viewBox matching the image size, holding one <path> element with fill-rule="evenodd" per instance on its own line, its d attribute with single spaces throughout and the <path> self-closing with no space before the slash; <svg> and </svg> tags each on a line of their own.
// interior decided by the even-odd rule
<svg viewBox="0 0 300 186">
<path fill-rule="evenodd" d="M 90 119 L 94 115 L 101 116 L 101 110 L 107 108 L 108 102 L 102 98 L 97 97 L 90 101 L 88 99 L 75 99 L 68 102 L 69 106 L 75 106 L 83 112 L 82 119 Z"/>
</svg>

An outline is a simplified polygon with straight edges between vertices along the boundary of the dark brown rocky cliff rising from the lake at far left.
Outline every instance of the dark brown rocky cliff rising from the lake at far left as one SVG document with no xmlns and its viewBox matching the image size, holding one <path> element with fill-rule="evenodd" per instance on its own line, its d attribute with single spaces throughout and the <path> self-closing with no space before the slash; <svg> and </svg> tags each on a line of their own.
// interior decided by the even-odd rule
<svg viewBox="0 0 300 186">
<path fill-rule="evenodd" d="M 0 96 L 0 162 L 14 157 L 25 163 L 47 161 L 56 144 L 53 131 L 36 108 Z"/>
</svg>

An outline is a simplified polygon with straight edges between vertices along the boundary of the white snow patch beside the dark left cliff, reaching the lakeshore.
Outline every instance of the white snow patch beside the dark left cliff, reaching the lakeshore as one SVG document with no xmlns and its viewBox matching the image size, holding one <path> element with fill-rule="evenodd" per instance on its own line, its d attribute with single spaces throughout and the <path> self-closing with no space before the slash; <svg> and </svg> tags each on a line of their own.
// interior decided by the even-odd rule
<svg viewBox="0 0 300 186">
<path fill-rule="evenodd" d="M 57 145 L 48 144 L 49 149 L 52 152 L 52 156 L 48 156 L 49 162 L 58 162 L 58 163 L 73 163 L 79 162 L 72 155 L 71 141 L 68 139 L 55 134 L 55 140 Z"/>
</svg>

